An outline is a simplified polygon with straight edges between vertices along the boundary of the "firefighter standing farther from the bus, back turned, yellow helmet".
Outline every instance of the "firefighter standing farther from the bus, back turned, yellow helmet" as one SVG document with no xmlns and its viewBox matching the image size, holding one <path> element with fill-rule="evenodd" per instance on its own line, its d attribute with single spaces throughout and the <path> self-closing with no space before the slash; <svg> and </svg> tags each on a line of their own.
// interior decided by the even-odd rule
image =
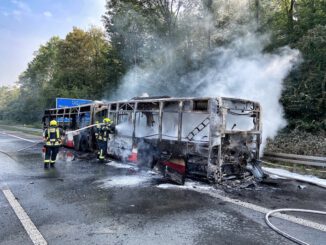
<svg viewBox="0 0 326 245">
<path fill-rule="evenodd" d="M 49 165 L 53 168 L 63 136 L 63 131 L 58 128 L 56 120 L 50 122 L 50 127 L 44 130 L 43 136 L 45 141 L 44 168 L 49 168 Z"/>
</svg>

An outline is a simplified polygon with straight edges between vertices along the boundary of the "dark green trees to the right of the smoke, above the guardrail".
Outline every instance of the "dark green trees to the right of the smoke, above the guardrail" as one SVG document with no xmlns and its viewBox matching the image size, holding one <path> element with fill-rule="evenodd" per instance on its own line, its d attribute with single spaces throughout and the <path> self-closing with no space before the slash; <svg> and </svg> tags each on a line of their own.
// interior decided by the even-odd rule
<svg viewBox="0 0 326 245">
<path fill-rule="evenodd" d="M 285 80 L 281 102 L 290 129 L 325 131 L 326 1 L 261 1 L 262 30 L 271 31 L 267 50 L 297 48 L 302 63 Z"/>
</svg>

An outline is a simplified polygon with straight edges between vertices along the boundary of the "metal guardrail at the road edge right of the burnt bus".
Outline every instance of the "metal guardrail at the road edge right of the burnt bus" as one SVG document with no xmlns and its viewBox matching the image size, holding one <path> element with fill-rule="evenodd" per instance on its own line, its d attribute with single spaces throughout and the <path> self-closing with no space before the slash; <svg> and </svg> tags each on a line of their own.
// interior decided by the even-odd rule
<svg viewBox="0 0 326 245">
<path fill-rule="evenodd" d="M 326 168 L 326 157 L 265 152 L 263 156 L 263 160 L 296 163 L 296 164 Z"/>
</svg>

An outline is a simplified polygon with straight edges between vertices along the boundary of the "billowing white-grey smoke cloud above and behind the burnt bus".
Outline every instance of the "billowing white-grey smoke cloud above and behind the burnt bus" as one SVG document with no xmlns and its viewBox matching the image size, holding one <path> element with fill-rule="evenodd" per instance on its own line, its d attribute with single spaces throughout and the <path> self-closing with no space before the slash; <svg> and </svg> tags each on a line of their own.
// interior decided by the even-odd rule
<svg viewBox="0 0 326 245">
<path fill-rule="evenodd" d="M 222 96 L 254 100 L 260 102 L 263 110 L 263 145 L 268 137 L 273 138 L 286 125 L 279 99 L 283 80 L 300 61 L 300 53 L 289 47 L 274 53 L 265 52 L 269 36 L 257 33 L 250 22 L 238 24 L 241 18 L 250 17 L 241 14 L 245 11 L 241 8 L 248 4 L 240 6 L 236 0 L 226 2 L 233 5 L 220 5 L 217 16 L 223 19 L 221 13 L 228 11 L 226 18 L 231 16 L 234 21 L 211 30 L 211 38 L 223 43 L 222 46 L 209 50 L 198 42 L 193 45 L 189 37 L 174 42 L 175 46 L 171 43 L 160 46 L 141 66 L 135 65 L 127 72 L 112 99 L 130 99 L 148 93 L 151 96 Z M 195 33 L 194 39 L 206 33 L 207 28 L 213 28 L 211 22 L 216 19 L 214 13 L 206 13 L 198 22 L 197 12 L 191 15 L 185 11 L 184 18 L 180 17 L 180 25 L 190 26 Z M 192 46 L 187 49 L 189 45 Z M 183 59 L 180 54 L 188 58 Z M 189 60 L 190 65 L 186 63 Z"/>
</svg>

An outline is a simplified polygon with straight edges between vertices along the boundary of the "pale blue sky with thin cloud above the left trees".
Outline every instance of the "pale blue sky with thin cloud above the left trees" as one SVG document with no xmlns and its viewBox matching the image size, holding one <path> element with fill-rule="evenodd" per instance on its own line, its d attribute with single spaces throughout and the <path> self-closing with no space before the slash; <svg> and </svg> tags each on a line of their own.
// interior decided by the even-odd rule
<svg viewBox="0 0 326 245">
<path fill-rule="evenodd" d="M 74 26 L 103 27 L 106 0 L 0 0 L 0 86 L 14 85 L 41 44 Z"/>
</svg>

